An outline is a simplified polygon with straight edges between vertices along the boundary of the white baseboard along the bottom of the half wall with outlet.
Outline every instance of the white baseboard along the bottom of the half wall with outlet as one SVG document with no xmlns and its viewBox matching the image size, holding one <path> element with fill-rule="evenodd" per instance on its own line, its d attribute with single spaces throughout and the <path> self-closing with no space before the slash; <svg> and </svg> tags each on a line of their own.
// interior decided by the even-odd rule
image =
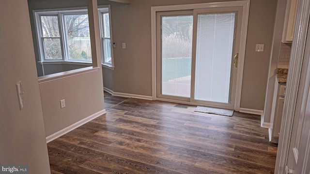
<svg viewBox="0 0 310 174">
<path fill-rule="evenodd" d="M 88 122 L 92 121 L 93 119 L 97 118 L 98 116 L 102 116 L 102 115 L 104 115 L 106 113 L 107 112 L 106 112 L 105 109 L 101 110 L 101 111 L 99 111 L 99 112 L 97 112 L 97 113 L 95 113 L 95 114 L 93 114 L 91 116 L 88 116 L 88 117 L 86 117 L 86 118 L 84 118 L 84 119 L 82 119 L 82 120 L 80 120 L 80 121 L 78 121 L 78 122 L 76 122 L 76 123 L 74 123 L 74 124 L 64 128 L 64 129 L 62 129 L 61 131 L 58 131 L 58 132 L 56 132 L 56 133 L 54 133 L 52 135 L 47 136 L 46 137 L 47 143 L 55 140 L 56 138 L 61 137 L 62 135 L 66 134 L 66 133 L 68 133 L 70 131 L 73 131 L 73 130 L 77 129 L 78 127 L 82 126 L 83 124 L 88 123 Z"/>
</svg>

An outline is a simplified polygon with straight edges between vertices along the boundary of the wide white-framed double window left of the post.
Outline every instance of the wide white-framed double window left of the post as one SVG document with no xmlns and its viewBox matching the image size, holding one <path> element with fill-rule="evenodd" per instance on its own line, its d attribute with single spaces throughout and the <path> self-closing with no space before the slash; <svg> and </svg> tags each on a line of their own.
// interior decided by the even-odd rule
<svg viewBox="0 0 310 174">
<path fill-rule="evenodd" d="M 85 10 L 35 13 L 41 61 L 92 62 Z"/>
</svg>

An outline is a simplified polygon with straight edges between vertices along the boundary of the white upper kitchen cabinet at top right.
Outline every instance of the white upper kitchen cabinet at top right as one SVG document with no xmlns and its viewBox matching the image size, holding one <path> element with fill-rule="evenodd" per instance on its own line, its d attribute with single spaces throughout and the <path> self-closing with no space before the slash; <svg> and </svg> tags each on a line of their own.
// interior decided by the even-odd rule
<svg viewBox="0 0 310 174">
<path fill-rule="evenodd" d="M 282 35 L 283 43 L 291 43 L 293 41 L 297 7 L 298 7 L 298 0 L 287 0 L 283 35 Z"/>
</svg>

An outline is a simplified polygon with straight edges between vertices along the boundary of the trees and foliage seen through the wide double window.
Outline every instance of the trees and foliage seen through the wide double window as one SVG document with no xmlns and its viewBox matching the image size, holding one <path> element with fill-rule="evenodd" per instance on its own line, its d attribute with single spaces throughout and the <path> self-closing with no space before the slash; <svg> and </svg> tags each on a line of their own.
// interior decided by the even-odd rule
<svg viewBox="0 0 310 174">
<path fill-rule="evenodd" d="M 87 14 L 65 15 L 67 50 L 73 60 L 91 60 L 90 34 Z M 57 16 L 41 16 L 46 59 L 62 59 L 61 39 Z"/>
</svg>

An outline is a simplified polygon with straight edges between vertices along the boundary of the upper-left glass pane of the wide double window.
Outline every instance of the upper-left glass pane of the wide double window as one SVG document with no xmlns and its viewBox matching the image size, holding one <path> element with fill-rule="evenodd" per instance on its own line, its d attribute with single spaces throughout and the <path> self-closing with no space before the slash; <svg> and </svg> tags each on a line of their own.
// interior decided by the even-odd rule
<svg viewBox="0 0 310 174">
<path fill-rule="evenodd" d="M 41 16 L 43 37 L 60 37 L 57 16 Z"/>
</svg>

